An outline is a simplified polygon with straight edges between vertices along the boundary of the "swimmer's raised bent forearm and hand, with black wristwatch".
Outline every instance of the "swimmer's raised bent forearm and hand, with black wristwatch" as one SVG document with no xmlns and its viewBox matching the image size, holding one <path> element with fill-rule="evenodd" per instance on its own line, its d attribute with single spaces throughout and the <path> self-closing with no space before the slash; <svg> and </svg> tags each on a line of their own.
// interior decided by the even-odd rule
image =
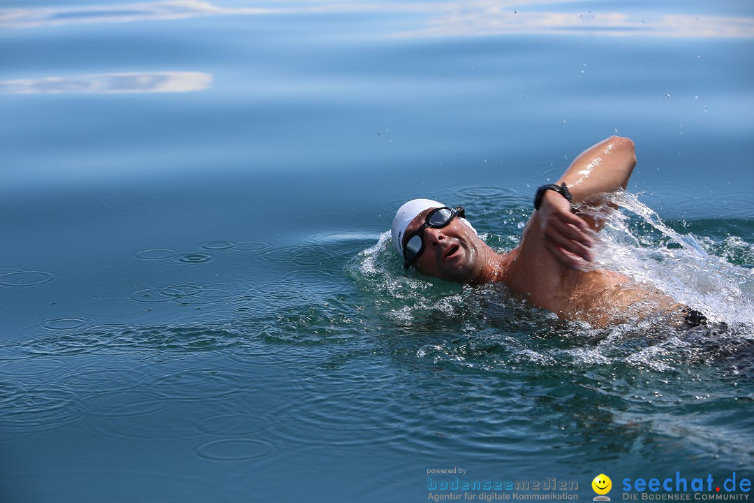
<svg viewBox="0 0 754 503">
<path fill-rule="evenodd" d="M 581 152 L 558 185 L 566 183 L 573 202 L 590 206 L 602 204 L 602 195 L 625 189 L 636 165 L 633 142 L 628 138 L 611 136 Z M 562 265 L 572 269 L 581 268 L 581 259 L 590 262 L 593 238 L 590 231 L 599 231 L 592 219 L 572 213 L 571 204 L 562 195 L 547 191 L 535 216 L 544 234 L 544 247 Z"/>
</svg>

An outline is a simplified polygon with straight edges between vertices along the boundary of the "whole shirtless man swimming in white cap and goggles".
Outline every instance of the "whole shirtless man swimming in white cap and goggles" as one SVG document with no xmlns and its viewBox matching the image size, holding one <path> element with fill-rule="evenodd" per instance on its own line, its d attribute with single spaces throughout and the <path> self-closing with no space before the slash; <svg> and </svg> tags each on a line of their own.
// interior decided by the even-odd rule
<svg viewBox="0 0 754 503">
<path fill-rule="evenodd" d="M 654 287 L 588 267 L 602 224 L 574 208 L 601 207 L 606 193 L 626 189 L 635 165 L 633 142 L 619 136 L 582 152 L 555 184 L 538 189 L 520 244 L 507 253 L 477 236 L 462 207 L 431 199 L 400 207 L 392 241 L 406 268 L 461 284 L 505 284 L 566 320 L 605 327 L 668 312 L 698 324 L 702 314 Z"/>
</svg>

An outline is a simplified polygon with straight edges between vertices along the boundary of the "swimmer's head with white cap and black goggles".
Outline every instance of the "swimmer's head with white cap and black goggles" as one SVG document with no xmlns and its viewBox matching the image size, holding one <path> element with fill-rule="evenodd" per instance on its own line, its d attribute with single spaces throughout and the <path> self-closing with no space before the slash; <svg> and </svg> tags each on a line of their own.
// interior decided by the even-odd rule
<svg viewBox="0 0 754 503">
<path fill-rule="evenodd" d="M 406 265 L 459 283 L 474 283 L 483 268 L 486 244 L 463 218 L 461 207 L 414 199 L 397 211 L 392 238 Z"/>
</svg>

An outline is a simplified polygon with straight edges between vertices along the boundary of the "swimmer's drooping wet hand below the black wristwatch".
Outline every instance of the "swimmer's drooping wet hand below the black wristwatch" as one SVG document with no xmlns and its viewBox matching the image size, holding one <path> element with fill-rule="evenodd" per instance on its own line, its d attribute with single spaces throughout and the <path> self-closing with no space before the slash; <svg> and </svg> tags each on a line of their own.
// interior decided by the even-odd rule
<svg viewBox="0 0 754 503">
<path fill-rule="evenodd" d="M 591 237 L 589 225 L 580 216 L 571 213 L 571 203 L 557 192 L 548 190 L 539 207 L 539 219 L 544 247 L 552 256 L 575 271 L 584 268 L 584 262 L 591 262 Z"/>
</svg>

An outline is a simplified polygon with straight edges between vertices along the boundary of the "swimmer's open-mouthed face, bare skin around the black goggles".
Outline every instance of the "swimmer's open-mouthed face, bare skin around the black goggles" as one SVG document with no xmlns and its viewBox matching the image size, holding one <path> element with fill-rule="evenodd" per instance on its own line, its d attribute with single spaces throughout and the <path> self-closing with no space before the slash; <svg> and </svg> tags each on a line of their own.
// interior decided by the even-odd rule
<svg viewBox="0 0 754 503">
<path fill-rule="evenodd" d="M 403 245 L 432 210 L 422 211 L 411 221 L 403 235 Z M 471 283 L 480 272 L 482 241 L 460 218 L 452 219 L 443 228 L 425 228 L 421 238 L 424 250 L 414 262 L 418 271 L 458 283 Z"/>
</svg>

